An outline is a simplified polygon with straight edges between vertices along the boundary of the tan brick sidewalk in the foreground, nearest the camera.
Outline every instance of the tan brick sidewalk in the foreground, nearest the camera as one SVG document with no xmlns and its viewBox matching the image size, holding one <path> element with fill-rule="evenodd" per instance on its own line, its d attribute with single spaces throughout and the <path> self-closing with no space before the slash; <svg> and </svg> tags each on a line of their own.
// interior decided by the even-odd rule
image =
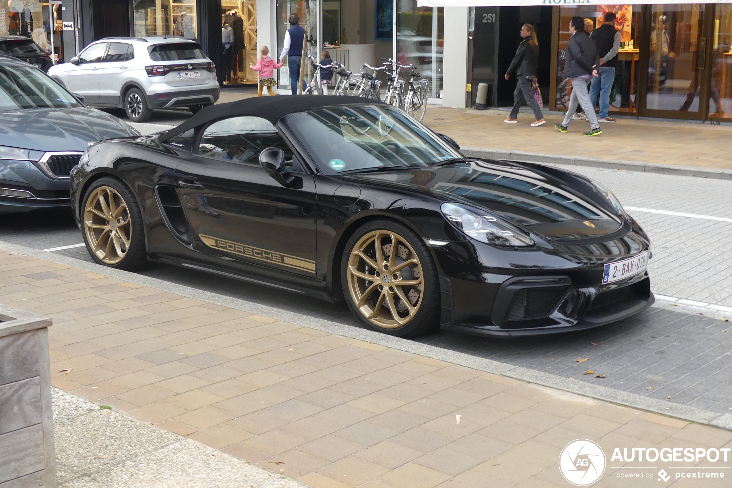
<svg viewBox="0 0 732 488">
<path fill-rule="evenodd" d="M 53 386 L 316 488 L 567 487 L 557 458 L 579 438 L 608 456 L 596 486 L 627 486 L 617 473 L 648 462 L 610 462 L 614 447 L 732 447 L 730 431 L 2 250 L 0 301 L 53 318 Z M 728 459 L 673 467 L 728 478 Z"/>
</svg>

